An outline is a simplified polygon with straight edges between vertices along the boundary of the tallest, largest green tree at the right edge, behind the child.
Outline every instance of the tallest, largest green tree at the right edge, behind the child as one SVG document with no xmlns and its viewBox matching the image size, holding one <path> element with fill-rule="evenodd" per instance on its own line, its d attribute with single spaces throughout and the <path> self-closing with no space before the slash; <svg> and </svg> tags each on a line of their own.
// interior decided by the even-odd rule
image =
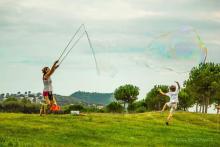
<svg viewBox="0 0 220 147">
<path fill-rule="evenodd" d="M 207 113 L 208 106 L 219 96 L 220 64 L 205 63 L 194 67 L 185 81 L 186 89 L 193 95 L 196 103 L 202 106 L 202 112 Z"/>
</svg>

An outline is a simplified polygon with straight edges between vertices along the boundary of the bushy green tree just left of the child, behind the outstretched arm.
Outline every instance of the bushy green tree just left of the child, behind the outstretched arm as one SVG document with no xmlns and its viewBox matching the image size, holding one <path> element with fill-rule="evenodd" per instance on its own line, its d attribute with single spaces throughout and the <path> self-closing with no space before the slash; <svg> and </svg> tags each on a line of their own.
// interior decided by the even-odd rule
<svg viewBox="0 0 220 147">
<path fill-rule="evenodd" d="M 168 86 L 155 85 L 150 92 L 147 93 L 145 103 L 148 110 L 161 110 L 163 105 L 169 100 L 167 96 L 163 96 L 158 92 L 161 89 L 163 92 L 168 92 Z"/>
</svg>

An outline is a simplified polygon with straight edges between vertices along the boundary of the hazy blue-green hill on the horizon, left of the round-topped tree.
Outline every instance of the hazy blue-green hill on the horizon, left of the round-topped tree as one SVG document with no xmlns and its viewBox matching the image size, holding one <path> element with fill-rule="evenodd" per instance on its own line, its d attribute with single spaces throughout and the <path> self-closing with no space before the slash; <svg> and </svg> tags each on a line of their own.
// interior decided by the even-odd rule
<svg viewBox="0 0 220 147">
<path fill-rule="evenodd" d="M 84 92 L 77 91 L 70 95 L 78 101 L 86 102 L 89 104 L 102 104 L 107 105 L 114 100 L 113 93 L 97 93 L 97 92 Z"/>
</svg>

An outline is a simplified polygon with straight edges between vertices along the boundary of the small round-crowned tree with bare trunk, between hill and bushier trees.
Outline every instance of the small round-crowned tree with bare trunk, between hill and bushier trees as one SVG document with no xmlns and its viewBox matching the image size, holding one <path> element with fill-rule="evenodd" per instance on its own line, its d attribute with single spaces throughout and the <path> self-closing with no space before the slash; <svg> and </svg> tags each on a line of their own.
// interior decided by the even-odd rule
<svg viewBox="0 0 220 147">
<path fill-rule="evenodd" d="M 120 86 L 114 92 L 115 99 L 124 102 L 124 108 L 126 103 L 133 103 L 138 95 L 139 88 L 130 84 Z"/>
</svg>

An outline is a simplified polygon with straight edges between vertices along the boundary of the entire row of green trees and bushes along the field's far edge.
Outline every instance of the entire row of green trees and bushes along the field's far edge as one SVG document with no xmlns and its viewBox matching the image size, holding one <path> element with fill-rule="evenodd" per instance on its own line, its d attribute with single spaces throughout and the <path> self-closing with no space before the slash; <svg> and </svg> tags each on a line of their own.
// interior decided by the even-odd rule
<svg viewBox="0 0 220 147">
<path fill-rule="evenodd" d="M 167 85 L 155 85 L 142 100 L 138 100 L 139 88 L 126 84 L 115 89 L 114 98 L 104 108 L 89 107 L 83 104 L 66 105 L 65 113 L 71 110 L 82 112 L 145 112 L 161 110 L 169 98 L 159 94 L 158 89 L 168 92 Z M 196 106 L 196 112 L 207 113 L 210 105 L 220 105 L 220 64 L 205 63 L 191 69 L 189 78 L 184 81 L 179 92 L 178 109 L 187 111 Z M 0 101 L 1 112 L 38 113 L 40 104 L 33 104 L 28 99 L 8 98 Z"/>
</svg>

